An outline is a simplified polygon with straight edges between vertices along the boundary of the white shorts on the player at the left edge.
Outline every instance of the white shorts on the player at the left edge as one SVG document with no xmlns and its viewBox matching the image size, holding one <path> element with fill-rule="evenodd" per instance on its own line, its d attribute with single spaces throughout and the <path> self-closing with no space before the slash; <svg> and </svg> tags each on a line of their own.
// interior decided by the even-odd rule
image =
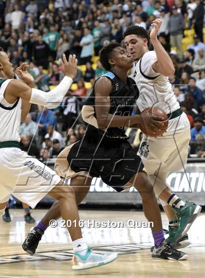
<svg viewBox="0 0 205 278">
<path fill-rule="evenodd" d="M 50 192 L 61 178 L 19 148 L 0 149 L 0 203 L 12 194 L 32 208 Z"/>
</svg>

